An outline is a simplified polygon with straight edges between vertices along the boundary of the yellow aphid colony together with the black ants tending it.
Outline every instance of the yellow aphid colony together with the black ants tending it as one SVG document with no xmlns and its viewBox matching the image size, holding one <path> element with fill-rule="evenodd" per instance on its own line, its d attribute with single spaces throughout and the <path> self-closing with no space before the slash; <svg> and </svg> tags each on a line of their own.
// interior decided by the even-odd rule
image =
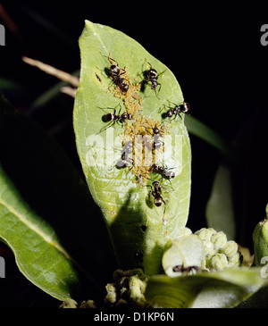
<svg viewBox="0 0 268 326">
<path fill-rule="evenodd" d="M 125 130 L 121 134 L 121 158 L 116 163 L 117 168 L 125 169 L 128 167 L 136 176 L 134 182 L 138 181 L 140 185 L 143 185 L 146 180 L 150 180 L 151 173 L 156 173 L 167 180 L 173 179 L 175 173 L 172 169 L 156 163 L 157 157 L 160 157 L 164 151 L 163 138 L 170 133 L 169 126 L 145 117 L 141 112 L 143 97 L 139 96 L 140 89 L 148 84 L 155 91 L 155 96 L 158 97 L 161 89 L 158 78 L 164 71 L 158 74 L 148 63 L 150 68 L 142 72 L 143 79 L 133 84 L 127 68 L 120 68 L 111 54 L 109 54 L 108 60 L 111 64 L 107 74 L 113 80 L 113 84 L 108 88 L 108 91 L 112 92 L 113 96 L 120 97 L 126 107 L 123 113 L 121 113 L 120 107 L 118 113 L 116 108 L 113 108 L 113 113 L 105 114 L 102 120 L 109 123 L 105 126 L 105 129 L 100 130 L 102 132 L 112 127 L 114 123 L 121 123 L 124 126 Z M 188 113 L 189 106 L 184 103 L 180 105 L 174 104 L 173 107 L 167 108 L 168 111 L 163 113 L 162 117 L 168 121 L 171 118 L 175 119 L 177 115 L 181 118 L 180 113 Z M 142 139 L 140 144 L 137 143 L 138 137 Z M 162 196 L 163 186 L 160 182 L 155 180 L 152 185 L 147 187 L 151 188 L 148 193 L 149 200 L 153 196 L 156 206 L 165 205 Z"/>
</svg>

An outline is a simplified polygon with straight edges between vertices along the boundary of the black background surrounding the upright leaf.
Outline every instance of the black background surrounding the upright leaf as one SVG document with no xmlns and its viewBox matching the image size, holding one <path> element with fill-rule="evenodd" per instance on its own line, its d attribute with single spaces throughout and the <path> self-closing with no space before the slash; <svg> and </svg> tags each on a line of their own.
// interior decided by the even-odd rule
<svg viewBox="0 0 268 326">
<path fill-rule="evenodd" d="M 0 47 L 0 74 L 25 88 L 4 94 L 53 135 L 79 170 L 71 122 L 73 100 L 59 95 L 32 110 L 33 101 L 57 80 L 22 63 L 21 55 L 63 71 L 79 70 L 78 38 L 84 21 L 89 20 L 135 38 L 166 64 L 180 82 L 191 115 L 235 144 L 241 155 L 239 167 L 233 170 L 237 240 L 252 249 L 252 232 L 264 218 L 268 203 L 268 46 L 260 43 L 261 26 L 268 23 L 264 3 L 180 0 L 2 4 L 19 33 L 6 28 L 5 46 Z M 45 29 L 40 20 L 32 19 L 30 11 L 62 34 Z M 195 231 L 205 226 L 205 205 L 222 156 L 199 138 L 190 135 L 190 139 L 193 161 L 188 226 Z M 243 235 L 239 230 L 244 230 Z"/>
</svg>

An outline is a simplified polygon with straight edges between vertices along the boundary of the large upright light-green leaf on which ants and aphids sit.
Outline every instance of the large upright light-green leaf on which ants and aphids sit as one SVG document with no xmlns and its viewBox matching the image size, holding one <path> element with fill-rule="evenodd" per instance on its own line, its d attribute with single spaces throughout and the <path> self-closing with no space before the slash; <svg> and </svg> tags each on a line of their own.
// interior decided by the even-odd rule
<svg viewBox="0 0 268 326">
<path fill-rule="evenodd" d="M 144 47 L 120 31 L 103 25 L 86 21 L 80 37 L 80 52 L 80 87 L 75 99 L 74 130 L 88 187 L 104 214 L 121 268 L 143 266 L 147 274 L 157 273 L 161 270 L 163 247 L 172 238 L 183 234 L 188 219 L 191 155 L 188 132 L 183 123 L 184 117 L 172 121 L 162 117 L 162 113 L 168 110 L 164 105 L 183 103 L 180 85 L 172 71 L 148 54 Z M 110 59 L 109 62 L 109 54 L 113 61 Z M 159 73 L 161 87 L 157 87 L 155 92 L 150 83 L 144 85 L 144 89 L 133 94 L 128 104 L 126 95 L 120 94 L 118 88 L 114 90 L 113 80 L 107 73 L 111 64 L 125 69 L 121 79 L 127 79 L 131 86 L 137 86 L 143 79 L 143 71 L 152 67 Z M 117 96 L 114 96 L 114 91 Z M 126 94 L 129 96 L 130 93 Z M 141 98 L 142 105 L 139 102 Z M 126 108 L 133 109 L 134 105 L 140 108 L 135 118 L 129 121 L 132 126 L 142 117 L 150 120 L 150 126 L 154 125 L 152 121 L 161 123 L 162 128 L 170 125 L 172 134 L 166 134 L 161 144 L 163 141 L 164 154 L 172 153 L 164 160 L 176 174 L 171 182 L 157 173 L 148 173 L 140 185 L 133 182 L 138 180 L 133 174 L 138 169 L 136 165 L 132 170 L 115 167 L 122 149 L 117 136 L 123 134 L 128 125 L 114 123 L 104 131 L 109 123 L 102 119 L 105 114 L 113 113 L 105 108 L 116 108 L 119 114 L 120 105 L 121 113 Z M 145 125 L 141 122 L 141 126 Z M 137 130 L 138 127 L 131 136 L 137 135 Z M 145 133 L 149 133 L 148 129 Z M 105 162 L 105 158 L 111 158 L 110 162 Z M 161 165 L 163 155 L 159 155 L 155 163 Z M 151 166 L 151 163 L 147 165 Z M 166 205 L 156 207 L 153 196 L 149 200 L 153 180 L 159 180 L 163 186 L 162 196 Z M 143 262 L 140 262 L 138 258 L 142 253 Z"/>
</svg>

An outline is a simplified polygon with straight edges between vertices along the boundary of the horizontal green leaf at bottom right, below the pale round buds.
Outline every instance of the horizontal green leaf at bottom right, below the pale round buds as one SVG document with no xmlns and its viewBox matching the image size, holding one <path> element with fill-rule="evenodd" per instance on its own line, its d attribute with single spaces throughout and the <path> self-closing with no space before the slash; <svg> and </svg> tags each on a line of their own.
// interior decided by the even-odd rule
<svg viewBox="0 0 268 326">
<path fill-rule="evenodd" d="M 146 298 L 155 307 L 163 308 L 231 308 L 267 284 L 258 268 L 226 269 L 178 278 L 155 275 L 148 280 Z"/>
</svg>

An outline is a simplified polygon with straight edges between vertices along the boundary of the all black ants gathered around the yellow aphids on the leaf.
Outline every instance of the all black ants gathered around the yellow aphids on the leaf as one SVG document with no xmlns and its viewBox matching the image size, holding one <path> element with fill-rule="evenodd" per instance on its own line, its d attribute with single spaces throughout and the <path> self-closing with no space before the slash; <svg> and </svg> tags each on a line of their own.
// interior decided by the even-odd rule
<svg viewBox="0 0 268 326">
<path fill-rule="evenodd" d="M 115 84 L 115 86 L 120 88 L 121 93 L 126 93 L 130 88 L 129 80 L 123 77 L 126 71 L 124 69 L 119 68 L 118 63 L 115 60 L 113 60 L 110 56 L 108 57 L 108 59 L 110 63 L 112 62 L 115 63 L 115 64 L 111 64 L 110 69 L 107 71 L 109 77 L 113 79 L 113 83 Z M 146 84 L 150 84 L 151 89 L 155 91 L 155 96 L 158 97 L 158 93 L 160 92 L 161 89 L 161 84 L 158 82 L 158 78 L 161 74 L 163 74 L 163 72 L 158 73 L 150 63 L 149 65 L 150 65 L 150 69 L 142 72 L 144 78 L 141 81 L 141 86 L 144 88 Z M 97 75 L 96 77 L 97 79 L 99 79 Z M 159 88 L 158 88 L 158 92 L 156 93 L 157 87 Z M 174 120 L 178 115 L 181 118 L 180 113 L 188 114 L 189 104 L 186 102 L 180 105 L 174 104 L 173 107 L 168 106 L 168 109 L 169 109 L 168 111 L 162 114 L 163 119 L 169 118 L 170 120 L 171 119 Z M 112 127 L 113 124 L 116 122 L 123 124 L 125 121 L 132 120 L 131 113 L 124 112 L 120 114 L 120 112 L 116 114 L 116 111 L 114 109 L 113 113 L 108 113 L 103 116 L 103 121 L 111 122 L 111 124 L 108 127 L 106 127 L 105 130 L 109 127 Z M 154 148 L 157 148 L 157 146 L 160 145 L 159 138 L 161 137 L 161 131 L 156 126 L 152 128 L 152 130 L 156 139 L 154 143 Z M 118 163 L 116 163 L 117 167 L 126 168 L 127 166 L 130 166 L 130 164 L 133 163 L 133 159 L 129 157 L 131 151 L 132 151 L 132 142 L 130 141 L 130 144 L 127 143 L 124 146 L 121 154 L 121 160 Z M 173 171 L 170 171 L 171 169 L 167 169 L 166 166 L 160 166 L 154 163 L 151 168 L 153 172 L 161 174 L 164 178 L 168 180 L 173 179 L 175 177 L 175 173 Z M 149 187 L 151 187 L 151 190 L 149 192 L 149 200 L 150 200 L 150 196 L 152 195 L 155 198 L 154 202 L 156 206 L 161 206 L 162 204 L 165 205 L 162 196 L 163 186 L 160 184 L 160 182 L 154 181 L 152 183 L 152 186 Z"/>
</svg>

